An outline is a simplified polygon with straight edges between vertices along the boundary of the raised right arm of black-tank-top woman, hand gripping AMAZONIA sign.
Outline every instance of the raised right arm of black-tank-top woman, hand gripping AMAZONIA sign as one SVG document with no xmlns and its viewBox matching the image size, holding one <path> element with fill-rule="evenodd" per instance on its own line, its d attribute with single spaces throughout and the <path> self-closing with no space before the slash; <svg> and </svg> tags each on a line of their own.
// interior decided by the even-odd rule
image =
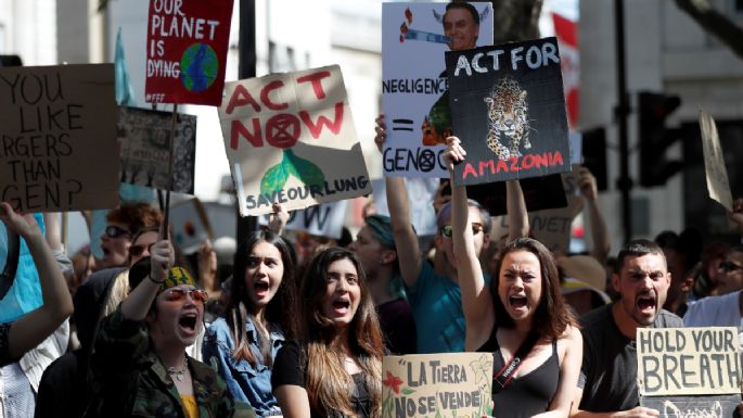
<svg viewBox="0 0 743 418">
<path fill-rule="evenodd" d="M 464 350 L 476 351 L 490 335 L 496 312 L 475 251 L 466 188 L 454 186 L 453 165 L 464 160 L 466 152 L 457 137 L 447 138 L 447 168 L 451 179 L 451 239 L 454 254 L 457 254 L 457 277 L 462 292 L 462 309 L 466 321 Z"/>
</svg>

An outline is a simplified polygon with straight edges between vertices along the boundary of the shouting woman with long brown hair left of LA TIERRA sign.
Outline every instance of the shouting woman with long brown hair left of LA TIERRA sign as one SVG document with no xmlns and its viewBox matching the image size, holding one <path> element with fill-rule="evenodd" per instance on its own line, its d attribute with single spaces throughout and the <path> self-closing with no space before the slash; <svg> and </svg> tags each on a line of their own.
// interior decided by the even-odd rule
<svg viewBox="0 0 743 418">
<path fill-rule="evenodd" d="M 299 292 L 298 342 L 273 365 L 273 393 L 284 418 L 380 417 L 382 331 L 356 255 L 317 254 Z"/>
</svg>

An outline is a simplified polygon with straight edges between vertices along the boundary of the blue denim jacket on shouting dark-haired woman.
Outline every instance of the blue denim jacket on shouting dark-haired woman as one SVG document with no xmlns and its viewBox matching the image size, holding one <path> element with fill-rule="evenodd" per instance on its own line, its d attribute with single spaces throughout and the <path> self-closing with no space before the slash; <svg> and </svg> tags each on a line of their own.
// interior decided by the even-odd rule
<svg viewBox="0 0 743 418">
<path fill-rule="evenodd" d="M 245 324 L 245 330 L 251 350 L 254 354 L 260 353 L 258 332 L 249 317 Z M 276 358 L 283 342 L 283 333 L 278 328 L 272 329 L 271 358 Z M 232 396 L 251 404 L 259 417 L 280 415 L 281 408 L 271 391 L 271 368 L 262 364 L 260 356 L 257 356 L 258 364 L 255 368 L 245 359 L 235 360 L 232 357 L 233 350 L 234 341 L 225 318 L 212 322 L 204 337 L 202 351 L 204 362 L 210 364 L 225 379 Z"/>
</svg>

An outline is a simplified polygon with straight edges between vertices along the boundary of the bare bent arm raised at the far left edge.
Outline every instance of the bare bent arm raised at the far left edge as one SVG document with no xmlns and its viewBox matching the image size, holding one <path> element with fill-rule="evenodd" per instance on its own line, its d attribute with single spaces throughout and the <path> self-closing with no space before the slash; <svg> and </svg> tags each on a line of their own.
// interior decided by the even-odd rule
<svg viewBox="0 0 743 418">
<path fill-rule="evenodd" d="M 10 204 L 0 203 L 0 219 L 8 229 L 26 241 L 28 251 L 39 273 L 43 305 L 16 320 L 9 332 L 10 358 L 20 358 L 37 346 L 73 314 L 73 300 L 62 270 L 56 264 L 49 244 L 34 215 L 21 216 Z"/>
</svg>

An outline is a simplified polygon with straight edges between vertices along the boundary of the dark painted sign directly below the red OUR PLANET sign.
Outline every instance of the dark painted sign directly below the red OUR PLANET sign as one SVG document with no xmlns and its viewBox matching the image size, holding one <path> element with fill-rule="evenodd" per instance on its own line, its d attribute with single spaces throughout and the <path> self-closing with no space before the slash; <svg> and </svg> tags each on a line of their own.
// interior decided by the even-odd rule
<svg viewBox="0 0 743 418">
<path fill-rule="evenodd" d="M 170 148 L 169 112 L 119 107 L 117 135 L 121 156 L 121 182 L 168 189 L 170 150 L 172 191 L 193 194 L 196 160 L 196 116 L 178 115 Z"/>
</svg>

